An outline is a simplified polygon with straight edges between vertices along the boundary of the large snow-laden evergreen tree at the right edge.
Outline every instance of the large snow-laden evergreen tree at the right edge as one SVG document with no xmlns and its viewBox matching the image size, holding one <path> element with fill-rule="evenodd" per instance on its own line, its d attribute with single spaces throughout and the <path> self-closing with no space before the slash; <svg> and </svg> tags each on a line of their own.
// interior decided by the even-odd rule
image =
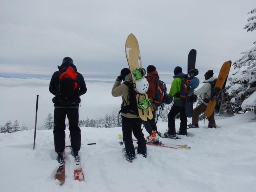
<svg viewBox="0 0 256 192">
<path fill-rule="evenodd" d="M 256 8 L 248 14 L 254 13 Z M 244 29 L 250 32 L 256 29 L 256 16 L 248 18 Z M 256 114 L 256 46 L 242 54 L 244 55 L 233 64 L 236 70 L 228 78 L 227 93 L 235 113 L 254 110 Z M 230 110 L 227 106 L 226 104 L 226 110 L 224 109 L 226 112 Z"/>
</svg>

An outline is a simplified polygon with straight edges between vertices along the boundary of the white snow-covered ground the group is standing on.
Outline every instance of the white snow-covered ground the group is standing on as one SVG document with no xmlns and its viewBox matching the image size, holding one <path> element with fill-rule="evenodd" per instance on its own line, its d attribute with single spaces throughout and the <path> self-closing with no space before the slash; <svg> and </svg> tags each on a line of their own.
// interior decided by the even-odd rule
<svg viewBox="0 0 256 192">
<path fill-rule="evenodd" d="M 207 120 L 205 125 L 201 121 L 200 128 L 188 129 L 188 137 L 160 139 L 164 144 L 187 144 L 190 150 L 147 146 L 147 158 L 136 155 L 133 163 L 122 156 L 120 127 L 83 127 L 80 155 L 86 182 L 74 180 L 74 159 L 67 148 L 66 182 L 62 186 L 54 182 L 58 162 L 52 130 L 36 132 L 36 150 L 32 149 L 34 130 L 0 134 L 1 191 L 255 192 L 256 121 L 251 121 L 253 117 L 252 112 L 217 116 L 216 123 L 220 126 L 217 129 L 208 128 Z M 158 124 L 159 132 L 166 129 L 167 123 Z M 143 132 L 147 136 L 145 129 Z M 92 142 L 96 145 L 86 145 Z"/>
</svg>

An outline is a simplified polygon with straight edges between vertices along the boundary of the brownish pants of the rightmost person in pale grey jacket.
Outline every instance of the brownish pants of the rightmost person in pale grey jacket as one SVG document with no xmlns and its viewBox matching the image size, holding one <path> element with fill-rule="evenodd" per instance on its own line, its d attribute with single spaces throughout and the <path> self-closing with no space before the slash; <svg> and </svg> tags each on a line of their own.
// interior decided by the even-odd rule
<svg viewBox="0 0 256 192">
<path fill-rule="evenodd" d="M 193 116 L 192 116 L 192 125 L 198 124 L 199 121 L 199 115 L 203 112 L 205 112 L 207 106 L 204 103 L 200 103 L 196 108 L 193 110 Z M 210 128 L 216 128 L 216 123 L 214 119 L 214 111 L 212 112 L 212 115 L 207 118 L 209 123 L 208 127 Z"/>
</svg>

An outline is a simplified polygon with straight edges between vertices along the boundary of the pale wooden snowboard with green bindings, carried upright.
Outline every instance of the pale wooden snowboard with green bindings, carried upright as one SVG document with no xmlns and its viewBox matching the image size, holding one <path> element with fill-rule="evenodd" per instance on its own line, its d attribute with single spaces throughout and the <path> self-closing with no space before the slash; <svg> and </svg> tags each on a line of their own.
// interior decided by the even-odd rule
<svg viewBox="0 0 256 192">
<path fill-rule="evenodd" d="M 139 44 L 138 44 L 136 37 L 132 33 L 128 36 L 128 38 L 126 40 L 125 52 L 126 52 L 126 58 L 127 58 L 131 73 L 134 70 L 136 70 L 136 67 L 142 68 Z M 135 79 L 133 77 L 132 77 L 132 81 L 135 85 Z M 137 91 L 136 87 L 134 88 L 134 90 Z M 136 95 L 137 102 L 139 99 L 141 100 L 144 98 L 148 98 L 148 94 L 145 93 L 145 94 L 137 94 Z M 140 118 L 144 121 L 147 121 L 147 118 L 148 119 L 153 118 L 153 114 L 152 114 L 152 111 L 150 108 L 148 108 L 146 110 L 142 110 L 142 109 L 138 108 L 138 111 L 139 111 Z"/>
</svg>

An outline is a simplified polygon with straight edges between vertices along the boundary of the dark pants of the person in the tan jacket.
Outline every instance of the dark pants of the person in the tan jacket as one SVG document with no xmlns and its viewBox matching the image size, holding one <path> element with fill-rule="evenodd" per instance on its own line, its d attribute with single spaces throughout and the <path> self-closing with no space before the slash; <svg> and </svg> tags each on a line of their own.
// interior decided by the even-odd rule
<svg viewBox="0 0 256 192">
<path fill-rule="evenodd" d="M 146 147 L 146 140 L 144 138 L 144 134 L 141 130 L 141 118 L 126 118 L 122 116 L 122 131 L 124 137 L 124 146 L 126 149 L 126 154 L 130 158 L 134 158 L 135 150 L 132 141 L 132 133 L 138 140 L 138 154 L 146 154 L 147 147 Z"/>
</svg>

